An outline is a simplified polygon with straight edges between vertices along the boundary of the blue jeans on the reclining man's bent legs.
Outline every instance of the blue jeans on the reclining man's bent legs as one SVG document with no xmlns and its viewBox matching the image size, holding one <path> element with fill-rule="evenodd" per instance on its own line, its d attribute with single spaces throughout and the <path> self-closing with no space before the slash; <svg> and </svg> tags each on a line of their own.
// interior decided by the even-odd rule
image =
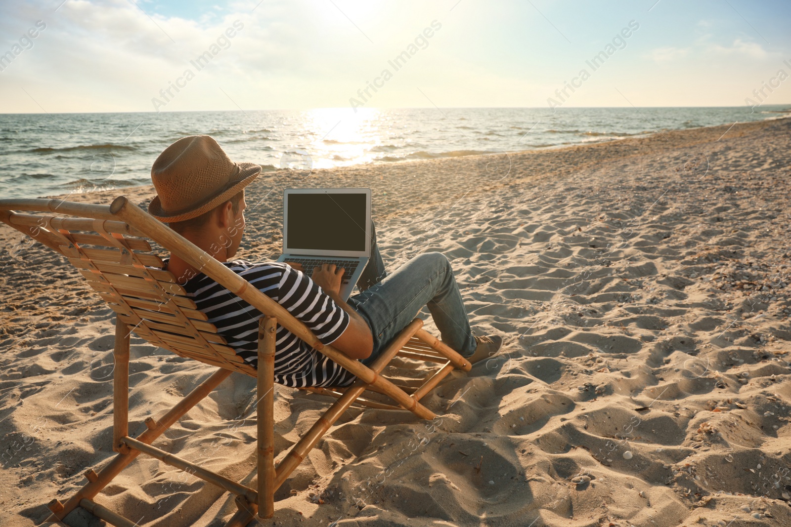
<svg viewBox="0 0 791 527">
<path fill-rule="evenodd" d="M 373 333 L 373 352 L 362 363 L 373 362 L 423 306 L 429 307 L 442 341 L 462 356 L 471 356 L 475 352 L 475 338 L 445 254 L 418 254 L 395 273 L 388 274 L 377 247 L 373 222 L 371 232 L 371 257 L 357 282 L 361 292 L 348 300 Z"/>
</svg>

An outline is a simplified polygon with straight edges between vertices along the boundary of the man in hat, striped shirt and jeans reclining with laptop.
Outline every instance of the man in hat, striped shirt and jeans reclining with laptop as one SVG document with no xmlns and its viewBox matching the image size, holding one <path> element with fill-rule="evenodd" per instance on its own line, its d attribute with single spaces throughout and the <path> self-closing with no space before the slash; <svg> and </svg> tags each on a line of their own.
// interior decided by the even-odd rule
<svg viewBox="0 0 791 527">
<path fill-rule="evenodd" d="M 300 265 L 231 260 L 244 234 L 244 187 L 261 168 L 233 163 L 206 135 L 168 146 L 151 168 L 157 197 L 149 213 L 166 222 L 229 269 L 280 303 L 316 334 L 353 359 L 370 363 L 414 316 L 428 305 L 442 340 L 471 362 L 498 352 L 501 337 L 474 337 L 448 259 L 420 254 L 387 275 L 376 240 L 361 292 L 346 303 L 339 296 L 343 269 L 324 264 L 312 278 Z M 331 221 L 331 218 L 327 218 Z M 198 309 L 237 354 L 255 365 L 261 313 L 173 254 L 165 263 Z M 275 382 L 285 386 L 347 386 L 354 375 L 282 326 L 276 333 Z"/>
</svg>

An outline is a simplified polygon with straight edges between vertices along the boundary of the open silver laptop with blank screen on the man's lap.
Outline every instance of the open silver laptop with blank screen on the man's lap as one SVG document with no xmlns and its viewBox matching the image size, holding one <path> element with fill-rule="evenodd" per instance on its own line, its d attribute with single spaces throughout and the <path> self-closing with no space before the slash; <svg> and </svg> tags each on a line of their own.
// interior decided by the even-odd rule
<svg viewBox="0 0 791 527">
<path fill-rule="evenodd" d="M 283 190 L 283 254 L 309 276 L 334 263 L 345 269 L 340 296 L 349 299 L 371 254 L 371 189 Z"/>
</svg>

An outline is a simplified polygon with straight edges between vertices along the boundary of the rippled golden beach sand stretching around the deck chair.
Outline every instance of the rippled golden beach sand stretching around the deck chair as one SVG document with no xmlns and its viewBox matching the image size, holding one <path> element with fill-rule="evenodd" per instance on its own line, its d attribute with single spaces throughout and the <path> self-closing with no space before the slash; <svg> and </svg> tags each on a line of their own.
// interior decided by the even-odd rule
<svg viewBox="0 0 791 527">
<path fill-rule="evenodd" d="M 791 525 L 789 133 L 785 119 L 262 175 L 240 258 L 279 254 L 284 187 L 368 186 L 388 267 L 446 254 L 475 331 L 504 345 L 424 399 L 434 423 L 350 408 L 261 525 Z M 70 199 L 119 194 L 153 190 Z M 38 525 L 113 456 L 114 322 L 63 258 L 5 225 L 0 239 L 16 247 L 0 277 L 0 524 Z M 133 436 L 214 371 L 137 337 L 131 353 Z M 396 366 L 407 383 L 423 367 Z M 280 456 L 328 402 L 278 387 Z M 252 484 L 255 416 L 255 379 L 233 374 L 155 445 Z M 97 501 L 140 525 L 214 526 L 229 496 L 141 456 Z"/>
</svg>

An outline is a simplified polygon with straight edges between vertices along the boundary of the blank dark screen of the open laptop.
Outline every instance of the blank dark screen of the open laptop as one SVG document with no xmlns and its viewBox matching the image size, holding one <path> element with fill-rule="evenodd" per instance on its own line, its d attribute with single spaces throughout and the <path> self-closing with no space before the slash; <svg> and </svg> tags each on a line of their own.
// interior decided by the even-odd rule
<svg viewBox="0 0 791 527">
<path fill-rule="evenodd" d="M 365 250 L 365 194 L 287 194 L 290 249 Z"/>
</svg>

